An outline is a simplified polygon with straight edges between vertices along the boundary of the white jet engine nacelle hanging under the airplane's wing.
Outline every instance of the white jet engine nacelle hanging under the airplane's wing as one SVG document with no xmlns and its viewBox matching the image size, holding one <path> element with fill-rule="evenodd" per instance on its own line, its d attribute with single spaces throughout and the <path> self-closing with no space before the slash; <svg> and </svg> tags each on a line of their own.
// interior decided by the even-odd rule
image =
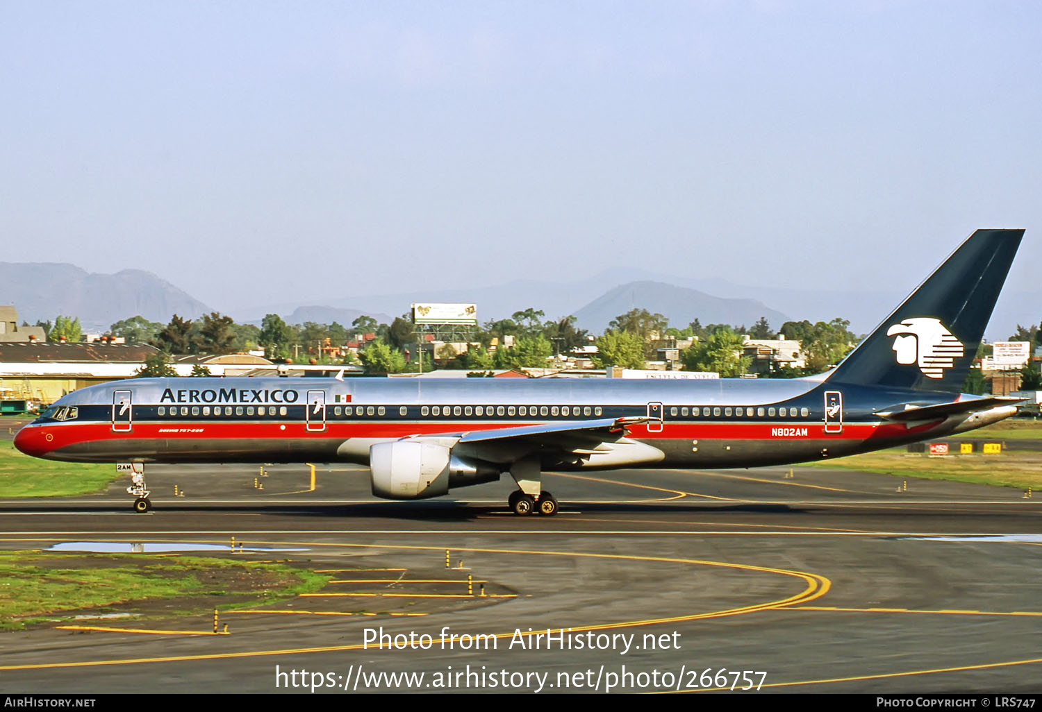
<svg viewBox="0 0 1042 712">
<path fill-rule="evenodd" d="M 500 468 L 489 462 L 456 457 L 440 442 L 395 440 L 369 449 L 373 494 L 386 500 L 423 500 L 463 487 L 499 479 Z"/>
</svg>

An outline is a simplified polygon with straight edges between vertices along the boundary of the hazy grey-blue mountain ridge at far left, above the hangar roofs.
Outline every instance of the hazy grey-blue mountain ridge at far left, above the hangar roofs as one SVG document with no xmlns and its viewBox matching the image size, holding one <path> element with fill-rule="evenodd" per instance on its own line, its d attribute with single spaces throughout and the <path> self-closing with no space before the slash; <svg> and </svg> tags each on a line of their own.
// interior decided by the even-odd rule
<svg viewBox="0 0 1042 712">
<path fill-rule="evenodd" d="M 84 331 L 103 331 L 138 314 L 166 324 L 174 314 L 196 319 L 213 311 L 150 272 L 98 275 L 58 262 L 0 262 L 0 303 L 14 304 L 29 324 L 57 314 L 79 317 Z"/>
</svg>

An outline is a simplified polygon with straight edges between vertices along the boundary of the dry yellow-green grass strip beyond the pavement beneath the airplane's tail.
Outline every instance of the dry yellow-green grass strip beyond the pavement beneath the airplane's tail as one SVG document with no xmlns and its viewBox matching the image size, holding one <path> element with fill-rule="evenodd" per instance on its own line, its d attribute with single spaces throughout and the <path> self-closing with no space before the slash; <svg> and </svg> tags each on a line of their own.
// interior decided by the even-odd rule
<svg viewBox="0 0 1042 712">
<path fill-rule="evenodd" d="M 909 454 L 904 449 L 850 455 L 828 462 L 807 463 L 812 467 L 858 469 L 882 475 L 949 480 L 973 484 L 1042 489 L 1042 454 L 949 455 L 929 457 Z"/>
</svg>

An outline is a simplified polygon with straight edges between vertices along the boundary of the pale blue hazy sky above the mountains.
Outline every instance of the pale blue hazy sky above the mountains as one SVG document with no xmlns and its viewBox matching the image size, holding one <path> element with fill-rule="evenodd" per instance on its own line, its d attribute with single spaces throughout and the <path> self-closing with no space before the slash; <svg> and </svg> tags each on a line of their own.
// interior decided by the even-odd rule
<svg viewBox="0 0 1042 712">
<path fill-rule="evenodd" d="M 222 311 L 614 266 L 909 291 L 1026 228 L 1036 2 L 0 2 L 0 259 Z M 615 286 L 605 284 L 605 289 Z"/>
</svg>

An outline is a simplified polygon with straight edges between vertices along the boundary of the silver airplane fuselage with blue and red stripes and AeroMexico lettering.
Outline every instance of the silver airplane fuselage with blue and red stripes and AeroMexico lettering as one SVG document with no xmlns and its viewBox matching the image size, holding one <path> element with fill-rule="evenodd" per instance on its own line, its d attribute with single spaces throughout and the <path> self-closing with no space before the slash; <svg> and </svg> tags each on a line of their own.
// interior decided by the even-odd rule
<svg viewBox="0 0 1042 712">
<path fill-rule="evenodd" d="M 17 446 L 74 462 L 368 464 L 371 446 L 410 436 L 643 417 L 626 425 L 625 435 L 645 449 L 614 458 L 546 453 L 542 464 L 748 467 L 968 429 L 966 413 L 907 423 L 876 414 L 894 404 L 950 400 L 950 393 L 808 379 L 131 379 L 64 397 L 19 433 Z M 971 427 L 1015 411 L 989 408 Z"/>
</svg>

